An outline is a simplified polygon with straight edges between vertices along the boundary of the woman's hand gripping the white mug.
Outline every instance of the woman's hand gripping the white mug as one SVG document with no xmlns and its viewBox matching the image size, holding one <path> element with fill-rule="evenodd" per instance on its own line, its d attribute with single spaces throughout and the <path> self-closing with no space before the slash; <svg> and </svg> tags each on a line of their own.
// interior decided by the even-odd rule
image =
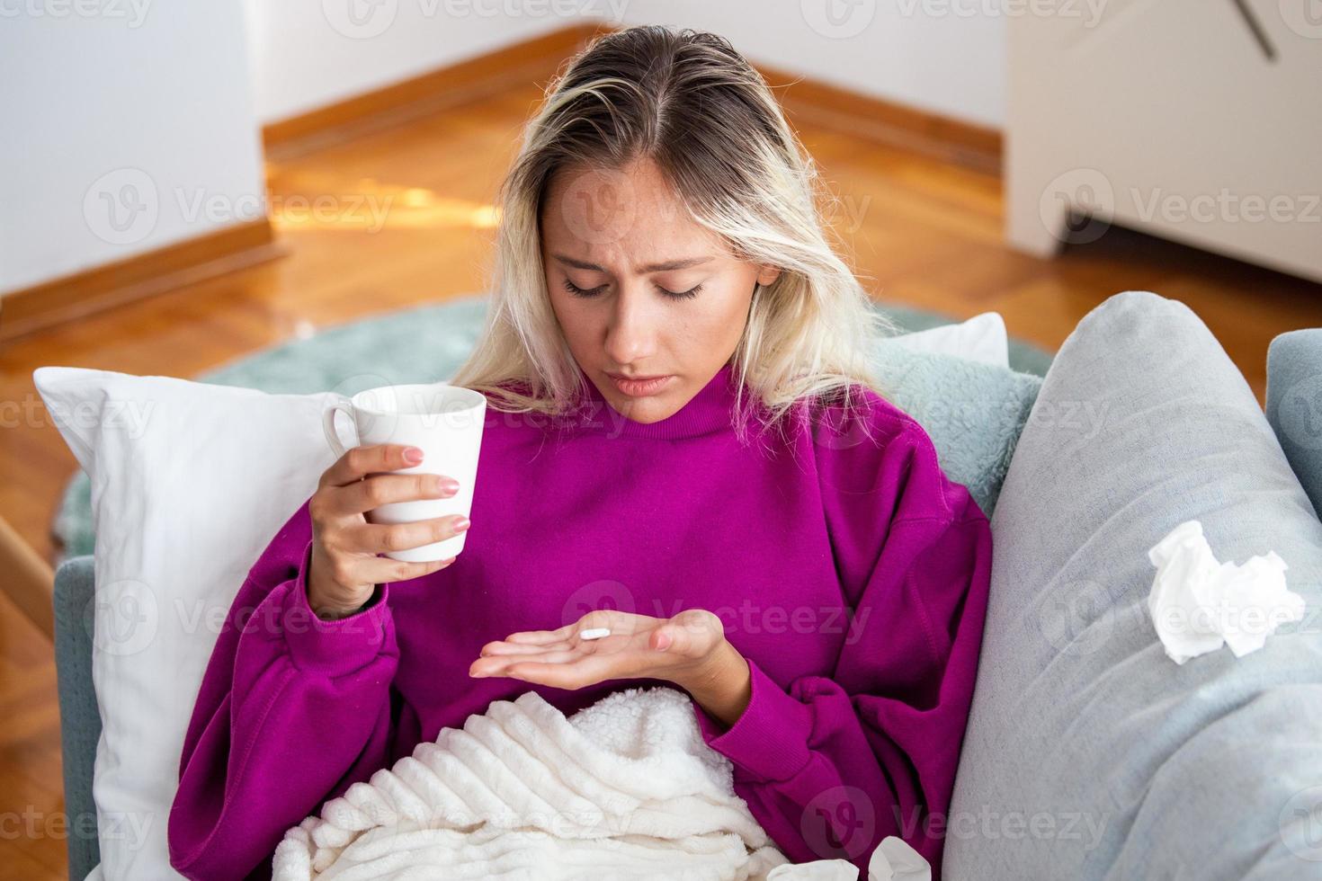
<svg viewBox="0 0 1322 881">
<path fill-rule="evenodd" d="M 418 461 L 405 457 L 418 453 Z M 402 444 L 354 446 L 321 474 L 308 502 L 312 516 L 312 560 L 308 605 L 321 618 L 342 618 L 362 608 L 378 584 L 407 581 L 443 569 L 456 557 L 403 563 L 379 557 L 386 551 L 415 548 L 468 528 L 461 515 L 416 523 L 369 523 L 365 514 L 387 502 L 453 495 L 459 483 L 442 474 L 390 474 L 420 464 L 422 452 Z M 460 526 L 460 522 L 463 524 Z"/>
</svg>

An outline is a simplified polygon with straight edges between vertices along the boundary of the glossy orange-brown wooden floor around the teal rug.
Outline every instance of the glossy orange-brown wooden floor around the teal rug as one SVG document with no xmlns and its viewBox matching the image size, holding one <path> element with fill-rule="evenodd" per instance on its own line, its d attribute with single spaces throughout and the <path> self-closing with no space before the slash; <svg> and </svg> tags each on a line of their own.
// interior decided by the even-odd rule
<svg viewBox="0 0 1322 881">
<path fill-rule="evenodd" d="M 530 82 L 407 127 L 286 149 L 268 174 L 287 258 L 8 345 L 0 402 L 24 405 L 0 432 L 0 515 L 52 553 L 49 523 L 77 465 L 36 405 L 38 366 L 192 376 L 329 324 L 480 291 L 490 199 L 539 95 Z M 1055 349 L 1112 293 L 1154 291 L 1207 322 L 1260 399 L 1272 337 L 1322 325 L 1322 285 L 1120 229 L 1052 262 L 1014 254 L 1002 244 L 999 178 L 806 123 L 800 131 L 879 299 L 957 317 L 995 309 L 1011 334 Z M 334 217 L 307 217 L 299 198 L 319 195 L 337 199 Z M 0 881 L 65 877 L 50 819 L 62 810 L 52 649 L 3 596 L 0 720 Z M 29 816 L 37 835 L 13 837 Z"/>
</svg>

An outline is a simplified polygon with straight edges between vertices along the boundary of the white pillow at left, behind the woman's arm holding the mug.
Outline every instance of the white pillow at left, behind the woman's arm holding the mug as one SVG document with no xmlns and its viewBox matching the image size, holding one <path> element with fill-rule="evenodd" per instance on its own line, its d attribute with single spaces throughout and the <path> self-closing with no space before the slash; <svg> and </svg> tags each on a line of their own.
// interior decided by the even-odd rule
<svg viewBox="0 0 1322 881">
<path fill-rule="evenodd" d="M 77 367 L 33 380 L 91 478 L 100 877 L 180 878 L 167 818 L 193 703 L 249 569 L 334 461 L 330 392 Z"/>
</svg>

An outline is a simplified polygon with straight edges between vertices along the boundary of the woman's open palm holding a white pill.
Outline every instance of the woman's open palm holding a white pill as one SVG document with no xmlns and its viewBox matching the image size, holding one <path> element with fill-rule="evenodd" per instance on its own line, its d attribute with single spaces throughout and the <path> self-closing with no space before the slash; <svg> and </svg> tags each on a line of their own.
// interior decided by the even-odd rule
<svg viewBox="0 0 1322 881">
<path fill-rule="evenodd" d="M 611 635 L 582 639 L 584 630 Z M 717 719 L 732 722 L 747 705 L 748 664 L 706 609 L 653 618 L 600 609 L 558 630 L 525 630 L 488 642 L 469 676 L 510 676 L 555 688 L 608 679 L 662 679 L 689 691 Z"/>
</svg>

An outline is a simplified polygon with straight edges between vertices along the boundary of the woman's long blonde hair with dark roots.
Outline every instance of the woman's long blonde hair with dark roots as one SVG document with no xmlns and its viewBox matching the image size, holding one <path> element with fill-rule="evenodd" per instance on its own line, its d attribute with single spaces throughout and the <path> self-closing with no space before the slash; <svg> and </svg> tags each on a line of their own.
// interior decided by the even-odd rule
<svg viewBox="0 0 1322 881">
<path fill-rule="evenodd" d="M 656 162 L 691 218 L 732 254 L 781 269 L 755 289 L 731 358 L 740 439 L 751 412 L 743 386 L 777 424 L 828 398 L 847 409 L 859 399 L 851 386 L 880 392 L 871 353 L 896 326 L 828 238 L 822 213 L 838 199 L 728 41 L 661 25 L 596 36 L 547 87 L 500 188 L 486 322 L 452 383 L 505 412 L 561 416 L 582 400 L 582 372 L 547 295 L 539 213 L 561 169 L 617 172 L 639 159 Z"/>
</svg>

